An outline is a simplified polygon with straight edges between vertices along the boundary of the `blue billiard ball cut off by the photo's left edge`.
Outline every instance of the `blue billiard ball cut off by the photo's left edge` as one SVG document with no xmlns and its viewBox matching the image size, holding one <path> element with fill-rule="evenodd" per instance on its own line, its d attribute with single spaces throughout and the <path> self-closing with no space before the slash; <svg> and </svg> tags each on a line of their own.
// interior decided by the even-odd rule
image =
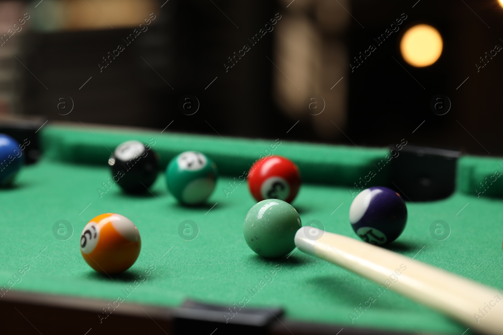
<svg viewBox="0 0 503 335">
<path fill-rule="evenodd" d="M 0 134 L 0 187 L 12 183 L 24 160 L 19 143 L 9 135 Z"/>
</svg>

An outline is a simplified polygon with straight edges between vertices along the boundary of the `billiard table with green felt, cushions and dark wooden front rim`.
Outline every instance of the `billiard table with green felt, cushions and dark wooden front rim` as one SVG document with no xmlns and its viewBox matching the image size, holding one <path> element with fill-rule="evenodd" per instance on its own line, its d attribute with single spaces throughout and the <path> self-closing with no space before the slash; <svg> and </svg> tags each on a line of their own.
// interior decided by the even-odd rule
<svg viewBox="0 0 503 335">
<path fill-rule="evenodd" d="M 281 155 L 298 165 L 303 184 L 292 205 L 303 226 L 358 239 L 348 217 L 352 199 L 360 188 L 374 185 L 405 191 L 393 181 L 391 165 L 402 157 L 396 153 L 410 146 L 406 141 L 397 139 L 392 155 L 390 148 L 281 137 L 251 140 L 81 124 L 47 124 L 37 135 L 41 159 L 0 190 L 2 329 L 89 335 L 473 333 L 346 269 L 298 250 L 281 259 L 261 258 L 243 239 L 244 217 L 256 203 L 245 173 L 257 160 Z M 153 143 L 163 169 L 182 151 L 211 157 L 220 176 L 207 203 L 180 205 L 167 191 L 163 173 L 145 194 L 123 193 L 107 161 L 118 144 L 132 139 Z M 503 158 L 463 155 L 454 162 L 445 177 L 453 180 L 454 192 L 428 201 L 410 196 L 405 230 L 385 248 L 501 289 Z M 130 218 L 142 240 L 136 263 L 113 276 L 91 269 L 79 251 L 82 228 L 106 212 Z M 440 226 L 437 220 L 443 220 Z M 369 296 L 375 301 L 362 308 Z"/>
</svg>

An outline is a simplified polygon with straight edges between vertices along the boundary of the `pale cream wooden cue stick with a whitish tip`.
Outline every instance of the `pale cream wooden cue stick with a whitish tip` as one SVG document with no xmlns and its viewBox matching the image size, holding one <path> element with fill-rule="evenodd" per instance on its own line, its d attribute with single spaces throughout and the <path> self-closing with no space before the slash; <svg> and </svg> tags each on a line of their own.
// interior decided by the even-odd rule
<svg viewBox="0 0 503 335">
<path fill-rule="evenodd" d="M 398 253 L 310 226 L 295 234 L 303 252 L 339 265 L 487 334 L 503 334 L 503 292 Z M 402 269 L 400 269 L 402 265 Z M 396 281 L 395 278 L 398 278 Z M 498 297 L 497 302 L 495 297 Z M 480 308 L 480 309 L 479 309 Z M 484 310 L 485 308 L 485 310 Z M 475 314 L 478 314 L 477 318 Z"/>
</svg>

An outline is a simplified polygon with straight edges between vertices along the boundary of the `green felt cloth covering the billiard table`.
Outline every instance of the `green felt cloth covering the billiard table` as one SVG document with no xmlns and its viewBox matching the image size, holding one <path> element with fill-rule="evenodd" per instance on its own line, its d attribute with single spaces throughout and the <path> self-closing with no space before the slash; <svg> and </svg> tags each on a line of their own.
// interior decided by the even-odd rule
<svg viewBox="0 0 503 335">
<path fill-rule="evenodd" d="M 178 144 L 170 144 L 177 141 L 176 135 L 157 135 L 157 144 L 163 146 L 156 144 L 154 148 L 159 148 L 161 157 L 163 153 L 171 155 L 172 151 L 195 149 L 205 152 L 203 149 L 206 148 L 211 151 L 212 157 L 216 157 L 219 170 L 230 174 L 219 179 L 205 206 L 189 209 L 178 205 L 167 192 L 162 174 L 151 188 L 153 194 L 126 196 L 118 185 L 113 185 L 100 197 L 97 188 L 107 181 L 109 170 L 104 164 L 76 164 L 85 159 L 70 154 L 71 146 L 80 155 L 99 156 L 106 162 L 109 153 L 106 149 L 97 149 L 103 147 L 100 141 L 113 150 L 114 144 L 122 140 L 142 138 L 125 133 L 113 136 L 98 130 L 93 130 L 93 134 L 89 137 L 81 131 L 47 129 L 43 138 L 45 158 L 22 170 L 17 177 L 19 186 L 0 190 L 4 237 L 0 248 L 1 286 L 7 285 L 23 264 L 29 264 L 30 270 L 12 289 L 93 297 L 110 303 L 122 296 L 128 302 L 164 306 L 178 306 L 184 299 L 191 298 L 232 307 L 247 296 L 249 302 L 246 306 L 281 306 L 286 310 L 286 317 L 296 320 L 409 332 L 415 330 L 419 333 L 461 334 L 466 330 L 463 325 L 389 289 L 378 296 L 375 290 L 380 285 L 299 251 L 288 259 L 280 260 L 263 259 L 251 251 L 244 241 L 242 225 L 255 200 L 245 182 L 236 183 L 235 189 L 227 195 L 222 189 L 233 181 L 232 173 L 239 173 L 245 161 L 257 159 L 255 155 L 260 155 L 261 148 L 269 142 L 226 138 L 228 144 L 239 152 L 232 154 L 233 149 L 219 137 L 186 136 L 179 138 Z M 142 136 L 146 141 L 151 138 L 149 134 Z M 92 146 L 86 144 L 87 141 L 99 145 Z M 190 147 L 192 145 L 194 148 Z M 62 161 L 63 157 L 53 147 L 64 150 L 70 158 Z M 332 162 L 326 164 L 327 171 L 343 169 L 341 166 L 344 164 L 364 169 L 364 165 L 369 163 L 367 155 L 378 157 L 386 153 L 384 149 L 361 148 L 365 152 L 362 154 L 358 149 L 283 142 L 275 154 L 295 154 L 299 167 L 305 163 L 307 171 L 310 171 L 306 173 L 301 168 L 304 180 L 313 181 L 321 180 L 319 176 L 310 176 L 315 170 L 314 167 L 309 170 L 308 163 L 303 161 L 301 148 L 315 158 L 317 150 L 325 150 L 326 156 L 316 159 Z M 336 156 L 344 152 L 351 154 Z M 225 155 L 242 155 L 244 158 L 236 158 L 232 162 L 226 160 Z M 162 160 L 165 163 L 169 158 L 162 157 Z M 226 167 L 226 162 L 231 167 Z M 353 173 L 351 177 L 356 174 L 347 173 Z M 330 182 L 335 183 L 340 177 L 330 178 Z M 348 184 L 351 183 L 343 181 L 343 185 Z M 293 202 L 303 225 L 316 219 L 327 231 L 356 238 L 348 218 L 352 201 L 348 188 L 329 185 L 328 182 L 325 185 L 304 183 Z M 477 198 L 476 194 L 461 192 L 441 201 L 408 202 L 407 226 L 402 236 L 389 248 L 501 289 L 501 204 L 497 198 Z M 130 270 L 113 278 L 92 270 L 82 259 L 78 247 L 83 227 L 91 218 L 105 212 L 129 217 L 137 225 L 142 239 L 142 251 L 137 262 Z M 67 241 L 59 241 L 52 235 L 52 226 L 60 219 L 68 220 L 74 229 L 73 236 Z M 199 226 L 199 235 L 193 241 L 185 241 L 178 235 L 178 226 L 186 219 L 194 220 Z M 445 241 L 436 241 L 430 236 L 430 225 L 437 219 L 447 221 L 452 229 Z M 138 280 L 150 265 L 155 270 L 146 277 L 147 281 L 126 295 L 123 290 Z M 255 295 L 250 294 L 248 290 L 256 285 L 261 287 L 261 280 L 278 268 L 281 270 L 271 277 L 272 281 L 256 289 L 258 293 Z M 352 322 L 349 314 L 354 312 L 354 308 L 359 308 L 360 303 L 369 300 L 371 295 L 376 301 Z M 468 333 L 470 330 L 465 334 Z"/>
</svg>

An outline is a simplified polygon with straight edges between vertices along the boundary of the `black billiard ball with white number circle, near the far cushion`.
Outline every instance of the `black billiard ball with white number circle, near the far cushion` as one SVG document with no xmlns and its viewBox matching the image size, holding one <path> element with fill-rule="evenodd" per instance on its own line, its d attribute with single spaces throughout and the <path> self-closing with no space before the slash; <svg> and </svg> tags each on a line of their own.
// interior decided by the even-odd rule
<svg viewBox="0 0 503 335">
<path fill-rule="evenodd" d="M 143 193 L 159 172 L 156 153 L 139 141 L 120 144 L 108 160 L 114 182 L 127 193 Z"/>
</svg>

